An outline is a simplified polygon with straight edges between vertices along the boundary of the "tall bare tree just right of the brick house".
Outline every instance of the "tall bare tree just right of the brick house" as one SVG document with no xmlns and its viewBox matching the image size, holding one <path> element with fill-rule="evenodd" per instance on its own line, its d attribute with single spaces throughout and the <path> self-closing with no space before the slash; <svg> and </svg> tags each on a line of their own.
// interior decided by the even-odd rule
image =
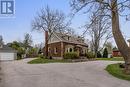
<svg viewBox="0 0 130 87">
<path fill-rule="evenodd" d="M 87 35 L 89 35 L 92 39 L 91 45 L 93 47 L 95 57 L 97 57 L 101 44 L 105 44 L 107 40 L 112 37 L 110 20 L 103 16 L 97 16 L 97 14 L 103 15 L 101 12 L 93 13 L 90 18 L 90 23 L 85 25 L 86 31 L 84 32 L 84 34 L 87 33 Z"/>
</svg>

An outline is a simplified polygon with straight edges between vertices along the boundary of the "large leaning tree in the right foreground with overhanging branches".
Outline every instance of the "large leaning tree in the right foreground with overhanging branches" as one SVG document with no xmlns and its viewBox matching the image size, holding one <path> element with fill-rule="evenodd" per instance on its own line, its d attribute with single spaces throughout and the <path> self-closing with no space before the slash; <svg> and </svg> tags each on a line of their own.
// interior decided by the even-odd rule
<svg viewBox="0 0 130 87">
<path fill-rule="evenodd" d="M 86 12 L 102 11 L 109 16 L 112 22 L 112 33 L 115 42 L 125 60 L 125 73 L 130 74 L 130 48 L 128 47 L 119 26 L 119 15 L 128 19 L 130 13 L 130 0 L 71 0 L 71 7 L 75 12 L 86 7 Z M 123 45 L 123 46 L 122 46 Z"/>
</svg>

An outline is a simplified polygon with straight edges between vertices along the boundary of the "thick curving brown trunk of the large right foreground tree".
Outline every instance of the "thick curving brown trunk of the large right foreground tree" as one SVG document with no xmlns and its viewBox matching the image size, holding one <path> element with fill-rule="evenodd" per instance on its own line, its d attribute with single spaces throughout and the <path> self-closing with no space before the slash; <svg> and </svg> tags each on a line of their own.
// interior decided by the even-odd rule
<svg viewBox="0 0 130 87">
<path fill-rule="evenodd" d="M 117 0 L 112 0 L 112 33 L 119 51 L 125 60 L 125 73 L 130 74 L 130 48 L 128 47 L 119 26 L 119 14 Z"/>
</svg>

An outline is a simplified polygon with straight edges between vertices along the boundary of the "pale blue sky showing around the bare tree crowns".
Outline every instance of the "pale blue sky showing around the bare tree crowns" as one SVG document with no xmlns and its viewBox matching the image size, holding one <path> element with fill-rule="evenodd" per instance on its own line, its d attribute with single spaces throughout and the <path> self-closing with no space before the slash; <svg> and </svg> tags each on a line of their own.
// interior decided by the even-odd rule
<svg viewBox="0 0 130 87">
<path fill-rule="evenodd" d="M 71 13 L 69 1 L 70 0 L 15 0 L 15 17 L 0 18 L 0 35 L 3 36 L 5 43 L 15 40 L 22 41 L 26 33 L 32 35 L 34 44 L 44 42 L 43 33 L 32 31 L 31 21 L 37 15 L 37 12 L 47 5 L 51 9 L 61 10 L 68 15 Z M 79 27 L 84 25 L 84 22 L 87 20 L 87 15 L 79 13 L 72 20 L 71 26 L 78 34 L 81 34 L 84 30 L 81 30 Z M 122 32 L 126 39 L 128 39 L 130 37 L 130 22 L 126 22 L 125 20 L 122 20 L 122 18 L 120 21 Z"/>
</svg>

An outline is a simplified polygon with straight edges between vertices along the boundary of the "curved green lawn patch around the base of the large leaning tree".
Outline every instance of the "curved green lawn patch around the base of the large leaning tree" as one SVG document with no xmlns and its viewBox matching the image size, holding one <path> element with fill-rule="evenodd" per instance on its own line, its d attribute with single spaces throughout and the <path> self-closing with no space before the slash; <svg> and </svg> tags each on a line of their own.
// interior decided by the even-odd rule
<svg viewBox="0 0 130 87">
<path fill-rule="evenodd" d="M 119 64 L 111 64 L 108 65 L 106 70 L 113 76 L 130 81 L 130 75 L 126 75 L 123 73 L 123 69 L 119 67 Z"/>
</svg>

